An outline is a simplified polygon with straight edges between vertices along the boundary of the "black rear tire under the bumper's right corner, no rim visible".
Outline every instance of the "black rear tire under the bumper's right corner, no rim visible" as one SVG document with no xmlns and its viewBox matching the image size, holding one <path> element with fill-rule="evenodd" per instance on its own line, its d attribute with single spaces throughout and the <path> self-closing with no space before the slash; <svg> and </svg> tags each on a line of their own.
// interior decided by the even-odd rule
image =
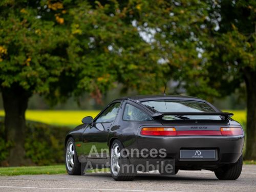
<svg viewBox="0 0 256 192">
<path fill-rule="evenodd" d="M 220 180 L 236 180 L 242 172 L 242 167 L 243 156 L 241 156 L 236 163 L 220 167 L 214 173 Z"/>
</svg>

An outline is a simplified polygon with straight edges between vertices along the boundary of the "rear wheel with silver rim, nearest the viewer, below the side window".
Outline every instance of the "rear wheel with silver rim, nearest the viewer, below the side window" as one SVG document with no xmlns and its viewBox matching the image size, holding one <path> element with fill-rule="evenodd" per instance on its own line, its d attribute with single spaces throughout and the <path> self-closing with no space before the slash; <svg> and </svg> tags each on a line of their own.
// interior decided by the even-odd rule
<svg viewBox="0 0 256 192">
<path fill-rule="evenodd" d="M 121 141 L 119 141 L 118 139 L 113 141 L 111 145 L 111 152 L 110 152 L 111 175 L 116 181 L 132 181 L 136 176 L 136 173 L 135 173 L 136 170 L 133 170 L 132 168 L 130 168 L 131 166 L 129 166 L 129 169 L 126 169 L 126 168 L 122 169 L 122 166 L 125 164 L 132 165 L 130 163 L 129 158 L 122 157 L 120 151 L 123 150 L 123 148 L 124 146 L 121 143 Z M 119 166 L 119 170 L 118 170 L 118 166 Z"/>
</svg>

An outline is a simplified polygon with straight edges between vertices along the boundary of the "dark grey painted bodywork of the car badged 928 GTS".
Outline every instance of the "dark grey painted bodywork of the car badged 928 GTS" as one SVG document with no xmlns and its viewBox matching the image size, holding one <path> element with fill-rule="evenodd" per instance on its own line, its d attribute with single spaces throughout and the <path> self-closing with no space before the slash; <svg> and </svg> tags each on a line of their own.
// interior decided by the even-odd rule
<svg viewBox="0 0 256 192">
<path fill-rule="evenodd" d="M 175 127 L 177 131 L 193 131 L 207 130 L 219 131 L 220 127 L 242 127 L 240 123 L 234 121 L 230 117 L 221 120 L 173 120 L 167 121 L 154 118 L 155 112 L 148 109 L 141 102 L 150 100 L 183 100 L 198 101 L 208 104 L 216 113 L 221 113 L 212 104 L 205 100 L 186 97 L 186 96 L 138 96 L 125 97 L 112 101 L 112 103 L 120 102 L 119 110 L 112 122 L 99 123 L 97 118 L 108 108 L 102 110 L 99 115 L 94 118 L 93 125 L 81 124 L 67 135 L 73 137 L 76 143 L 76 151 L 80 162 L 85 160 L 93 163 L 107 163 L 109 161 L 109 151 L 103 152 L 103 155 L 97 157 L 96 154 L 89 154 L 91 147 L 96 146 L 99 152 L 102 148 L 110 149 L 111 143 L 115 139 L 119 139 L 123 146 L 128 150 L 132 148 L 165 148 L 166 158 L 175 159 L 176 167 L 179 169 L 197 170 L 208 169 L 214 170 L 224 164 L 235 163 L 242 155 L 244 145 L 244 134 L 239 136 L 211 136 L 211 135 L 188 135 L 188 136 L 145 136 L 141 135 L 142 127 Z M 148 121 L 127 121 L 123 119 L 125 105 L 129 103 L 144 113 L 152 117 Z M 99 127 L 97 127 L 99 126 Z M 216 150 L 216 159 L 181 159 L 181 150 Z M 135 160 L 136 161 L 136 160 Z M 136 163 L 136 162 L 135 162 Z"/>
</svg>

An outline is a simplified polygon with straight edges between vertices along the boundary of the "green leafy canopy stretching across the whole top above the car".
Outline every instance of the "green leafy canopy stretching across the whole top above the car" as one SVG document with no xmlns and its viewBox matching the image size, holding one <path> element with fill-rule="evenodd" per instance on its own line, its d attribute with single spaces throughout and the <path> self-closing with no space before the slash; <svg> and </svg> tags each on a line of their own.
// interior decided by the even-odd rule
<svg viewBox="0 0 256 192">
<path fill-rule="evenodd" d="M 46 95 L 124 90 L 212 97 L 255 70 L 255 1 L 2 1 L 0 87 Z M 228 10 L 228 11 L 227 11 Z M 242 11 L 240 11 L 242 10 Z M 150 87 L 150 89 L 148 89 Z"/>
</svg>

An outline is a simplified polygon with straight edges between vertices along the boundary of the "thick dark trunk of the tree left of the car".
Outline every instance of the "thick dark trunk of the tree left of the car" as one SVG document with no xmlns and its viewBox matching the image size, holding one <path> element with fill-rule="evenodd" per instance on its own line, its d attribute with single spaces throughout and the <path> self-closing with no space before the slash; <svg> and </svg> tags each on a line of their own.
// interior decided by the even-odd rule
<svg viewBox="0 0 256 192">
<path fill-rule="evenodd" d="M 13 142 L 7 159 L 10 166 L 25 165 L 25 111 L 30 94 L 20 87 L 2 89 L 6 140 Z"/>
</svg>

